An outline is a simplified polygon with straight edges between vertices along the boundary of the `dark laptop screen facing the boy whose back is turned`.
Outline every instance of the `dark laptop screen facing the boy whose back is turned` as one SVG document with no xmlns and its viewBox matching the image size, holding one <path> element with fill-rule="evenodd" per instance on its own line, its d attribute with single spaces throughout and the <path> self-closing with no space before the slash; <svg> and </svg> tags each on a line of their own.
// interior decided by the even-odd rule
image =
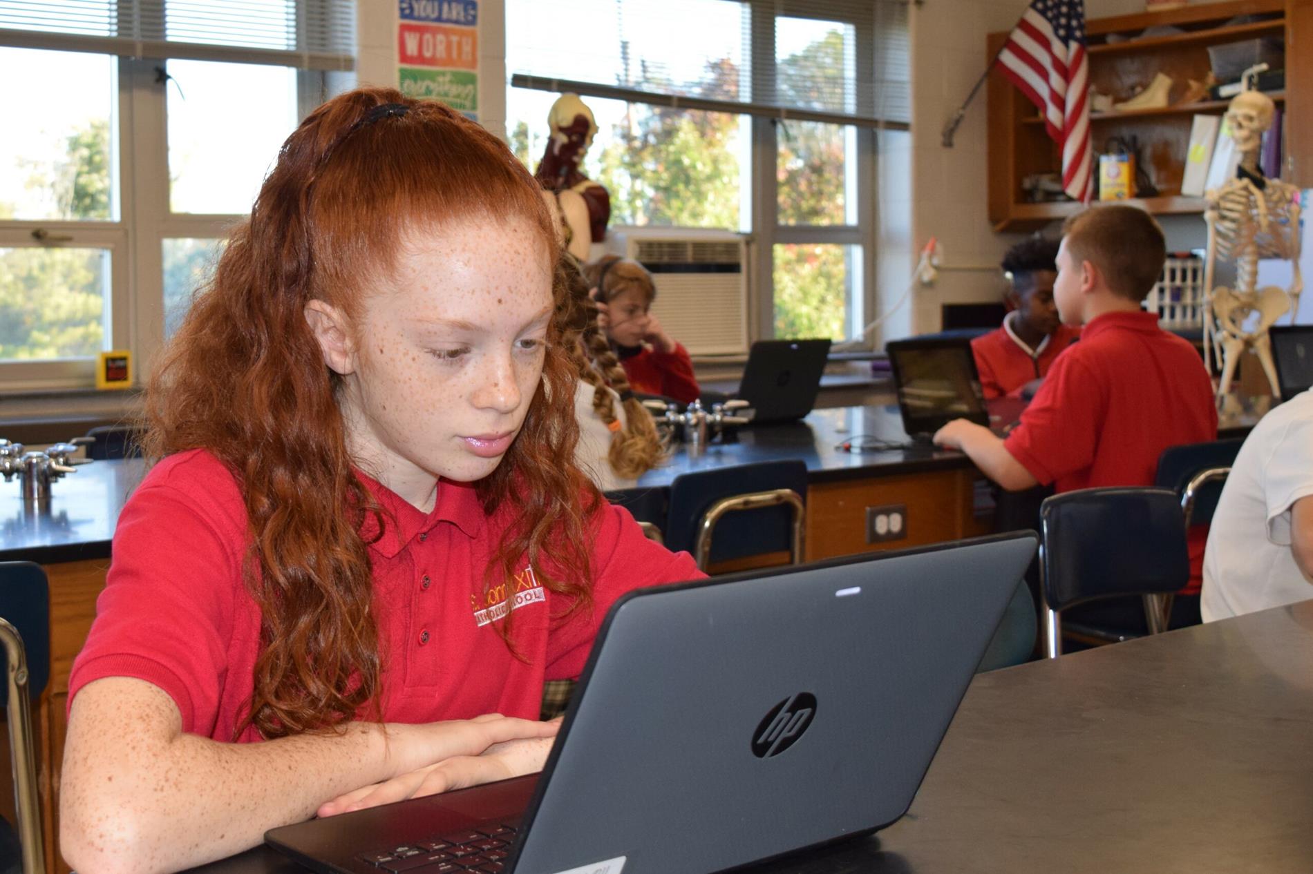
<svg viewBox="0 0 1313 874">
<path fill-rule="evenodd" d="M 913 337 L 885 346 L 903 430 L 927 440 L 953 419 L 989 425 L 985 392 L 965 337 Z"/>
</svg>

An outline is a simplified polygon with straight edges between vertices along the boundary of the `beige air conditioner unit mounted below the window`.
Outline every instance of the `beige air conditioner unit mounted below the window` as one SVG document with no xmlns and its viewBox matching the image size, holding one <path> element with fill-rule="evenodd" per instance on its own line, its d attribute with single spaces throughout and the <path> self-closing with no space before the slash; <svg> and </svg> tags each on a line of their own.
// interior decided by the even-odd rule
<svg viewBox="0 0 1313 874">
<path fill-rule="evenodd" d="M 747 241 L 697 227 L 612 227 L 607 248 L 656 283 L 653 314 L 695 356 L 747 353 Z"/>
</svg>

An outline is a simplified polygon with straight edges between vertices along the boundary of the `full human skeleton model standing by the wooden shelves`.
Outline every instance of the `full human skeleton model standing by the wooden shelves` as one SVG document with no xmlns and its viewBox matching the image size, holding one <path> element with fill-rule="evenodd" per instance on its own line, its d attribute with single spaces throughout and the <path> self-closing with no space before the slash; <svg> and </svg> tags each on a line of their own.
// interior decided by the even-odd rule
<svg viewBox="0 0 1313 874">
<path fill-rule="evenodd" d="M 1250 73 L 1245 72 L 1246 81 Z M 1204 361 L 1212 369 L 1216 353 L 1222 365 L 1217 395 L 1230 388 L 1236 365 L 1245 350 L 1253 350 L 1263 365 L 1272 395 L 1279 394 L 1276 369 L 1267 329 L 1287 311 L 1299 308 L 1300 291 L 1300 201 L 1299 189 L 1263 178 L 1258 154 L 1263 131 L 1272 125 L 1272 101 L 1257 91 L 1243 91 L 1226 110 L 1226 123 L 1241 155 L 1236 178 L 1209 189 L 1208 261 L 1204 265 Z M 1236 287 L 1213 287 L 1217 260 L 1234 261 Z M 1258 286 L 1259 259 L 1289 261 L 1293 280 L 1289 289 Z M 1254 320 L 1254 314 L 1258 314 Z"/>
</svg>

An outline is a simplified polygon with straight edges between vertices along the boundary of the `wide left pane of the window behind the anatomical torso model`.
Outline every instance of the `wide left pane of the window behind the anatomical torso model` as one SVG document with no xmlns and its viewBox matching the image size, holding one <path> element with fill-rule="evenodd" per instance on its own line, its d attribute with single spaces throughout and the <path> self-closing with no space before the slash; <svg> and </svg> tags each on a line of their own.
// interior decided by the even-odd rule
<svg viewBox="0 0 1313 874">
<path fill-rule="evenodd" d="M 742 88 L 744 8 L 738 0 L 576 5 L 587 9 L 507 0 L 507 67 L 685 97 L 733 98 Z M 574 22 L 569 43 L 544 39 L 562 20 Z M 699 26 L 689 28 L 691 21 Z M 557 96 L 508 89 L 511 147 L 530 169 L 546 148 L 548 110 Z M 587 104 L 597 134 L 584 175 L 611 194 L 612 224 L 746 228 L 747 115 L 597 96 Z"/>
</svg>

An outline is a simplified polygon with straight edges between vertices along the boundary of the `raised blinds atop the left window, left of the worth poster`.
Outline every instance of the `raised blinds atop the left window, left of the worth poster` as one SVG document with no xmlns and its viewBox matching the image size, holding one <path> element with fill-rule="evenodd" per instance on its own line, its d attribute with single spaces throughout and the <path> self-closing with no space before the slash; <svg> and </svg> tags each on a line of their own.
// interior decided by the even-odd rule
<svg viewBox="0 0 1313 874">
<path fill-rule="evenodd" d="M 355 0 L 0 0 L 0 43 L 353 70 Z"/>
</svg>

